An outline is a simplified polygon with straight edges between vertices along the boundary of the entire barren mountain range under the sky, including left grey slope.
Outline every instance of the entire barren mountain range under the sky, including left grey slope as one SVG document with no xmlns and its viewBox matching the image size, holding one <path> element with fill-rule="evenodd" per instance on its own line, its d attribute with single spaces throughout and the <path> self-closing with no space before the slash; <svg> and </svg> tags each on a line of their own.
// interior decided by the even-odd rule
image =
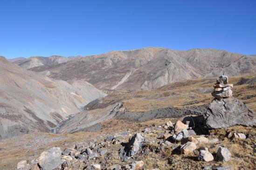
<svg viewBox="0 0 256 170">
<path fill-rule="evenodd" d="M 109 98 L 113 104 L 122 101 L 117 96 L 121 92 L 157 90 L 187 79 L 244 74 L 256 74 L 256 55 L 214 49 L 142 48 L 86 57 L 9 61 L 0 57 L 0 138 L 49 132 L 89 103 L 89 109 L 98 109 L 95 105 L 104 109 L 105 104 L 100 102 L 107 100 L 101 100 L 106 95 L 113 97 Z"/>
</svg>

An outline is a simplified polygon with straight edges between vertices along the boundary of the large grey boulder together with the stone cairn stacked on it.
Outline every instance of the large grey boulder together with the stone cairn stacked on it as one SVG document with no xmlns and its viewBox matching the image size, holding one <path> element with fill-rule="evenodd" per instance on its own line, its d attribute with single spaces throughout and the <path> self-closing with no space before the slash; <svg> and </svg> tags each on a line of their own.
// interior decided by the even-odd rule
<svg viewBox="0 0 256 170">
<path fill-rule="evenodd" d="M 256 126 L 256 114 L 246 104 L 232 97 L 232 87 L 232 84 L 228 84 L 227 76 L 220 76 L 217 79 L 212 93 L 215 99 L 203 115 L 205 127 L 208 129 L 228 128 L 235 125 Z M 221 90 L 216 91 L 218 88 Z"/>
</svg>

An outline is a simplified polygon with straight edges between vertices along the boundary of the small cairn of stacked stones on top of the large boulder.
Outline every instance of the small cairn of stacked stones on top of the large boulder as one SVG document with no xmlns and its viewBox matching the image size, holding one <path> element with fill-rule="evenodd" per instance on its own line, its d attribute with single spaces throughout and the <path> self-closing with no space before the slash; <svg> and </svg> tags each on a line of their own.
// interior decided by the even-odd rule
<svg viewBox="0 0 256 170">
<path fill-rule="evenodd" d="M 231 88 L 233 88 L 233 84 L 228 84 L 228 76 L 221 75 L 217 78 L 217 81 L 214 84 L 214 91 L 212 92 L 212 96 L 219 100 L 231 97 Z"/>
</svg>

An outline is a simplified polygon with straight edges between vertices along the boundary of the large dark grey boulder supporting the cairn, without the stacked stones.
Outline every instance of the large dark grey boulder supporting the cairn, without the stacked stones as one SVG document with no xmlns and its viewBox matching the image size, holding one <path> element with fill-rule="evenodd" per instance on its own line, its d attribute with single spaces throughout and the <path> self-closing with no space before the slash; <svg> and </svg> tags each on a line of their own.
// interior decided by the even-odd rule
<svg viewBox="0 0 256 170">
<path fill-rule="evenodd" d="M 228 128 L 235 125 L 256 126 L 256 114 L 234 97 L 213 100 L 203 115 L 208 129 Z"/>
</svg>

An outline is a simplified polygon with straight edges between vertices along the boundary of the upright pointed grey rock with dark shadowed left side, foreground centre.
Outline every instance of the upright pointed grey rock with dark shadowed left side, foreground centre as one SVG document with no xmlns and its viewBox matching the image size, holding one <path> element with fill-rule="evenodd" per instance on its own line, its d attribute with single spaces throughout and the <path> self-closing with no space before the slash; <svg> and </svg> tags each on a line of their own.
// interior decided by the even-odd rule
<svg viewBox="0 0 256 170">
<path fill-rule="evenodd" d="M 125 146 L 126 156 L 135 155 L 138 152 L 144 140 L 145 139 L 141 135 L 141 133 L 136 133 L 135 135 L 133 135 L 129 140 L 128 145 Z"/>
</svg>

